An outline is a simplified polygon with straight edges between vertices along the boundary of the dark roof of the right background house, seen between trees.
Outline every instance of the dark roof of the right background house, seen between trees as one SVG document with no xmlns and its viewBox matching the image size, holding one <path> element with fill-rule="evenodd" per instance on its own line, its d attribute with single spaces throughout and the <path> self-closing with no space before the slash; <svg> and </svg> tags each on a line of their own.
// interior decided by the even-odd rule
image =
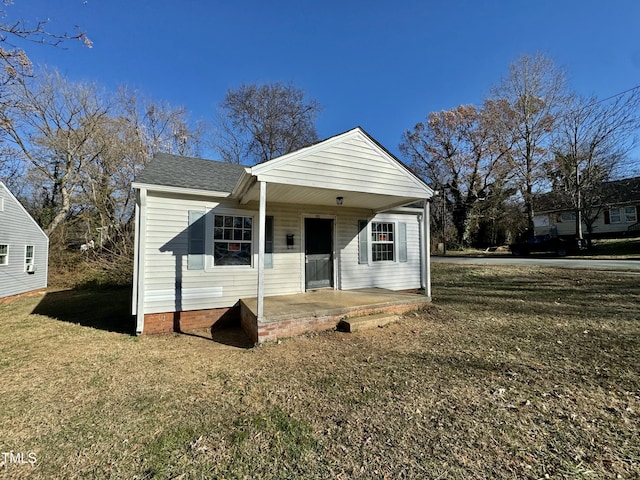
<svg viewBox="0 0 640 480">
<path fill-rule="evenodd" d="M 640 177 L 604 182 L 600 188 L 603 205 L 640 203 Z M 536 212 L 540 213 L 564 211 L 573 208 L 567 196 L 558 191 L 536 196 L 534 207 Z"/>
</svg>

